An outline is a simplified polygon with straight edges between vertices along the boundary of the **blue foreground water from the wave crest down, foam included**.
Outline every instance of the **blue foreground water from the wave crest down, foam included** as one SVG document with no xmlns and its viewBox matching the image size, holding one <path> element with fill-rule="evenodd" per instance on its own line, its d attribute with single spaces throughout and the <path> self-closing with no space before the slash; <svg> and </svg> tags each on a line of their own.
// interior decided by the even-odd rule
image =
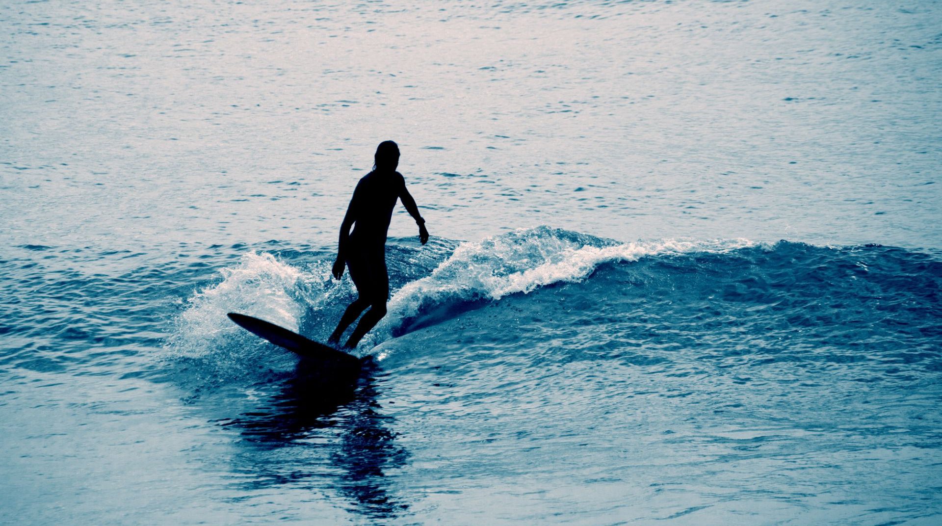
<svg viewBox="0 0 942 526">
<path fill-rule="evenodd" d="M 323 339 L 353 297 L 329 281 L 331 255 L 274 241 L 171 258 L 16 247 L 5 469 L 32 493 L 8 513 L 51 518 L 33 507 L 69 499 L 92 520 L 124 492 L 148 495 L 141 517 L 164 499 L 325 522 L 937 512 L 938 255 L 547 227 L 392 239 L 392 316 L 360 351 L 371 365 L 325 390 L 224 312 Z M 219 513 L 200 517 L 232 517 Z"/>
</svg>

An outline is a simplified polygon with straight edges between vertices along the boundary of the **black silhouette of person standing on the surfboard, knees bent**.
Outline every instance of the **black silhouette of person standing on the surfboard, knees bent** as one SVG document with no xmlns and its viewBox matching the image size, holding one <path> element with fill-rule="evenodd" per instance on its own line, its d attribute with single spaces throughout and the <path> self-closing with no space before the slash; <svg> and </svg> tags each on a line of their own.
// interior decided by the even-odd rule
<svg viewBox="0 0 942 526">
<path fill-rule="evenodd" d="M 344 275 L 344 265 L 347 265 L 358 297 L 349 304 L 328 341 L 339 343 L 347 327 L 369 307 L 347 340 L 344 346 L 347 349 L 355 348 L 360 338 L 386 315 L 386 300 L 389 298 L 386 232 L 397 199 L 402 201 L 406 211 L 418 224 L 418 238 L 422 244 L 429 240 L 425 220 L 419 215 L 415 200 L 406 189 L 405 179 L 396 171 L 399 164 L 398 145 L 392 140 L 381 142 L 373 158 L 373 171 L 360 179 L 353 190 L 347 215 L 340 225 L 337 260 L 333 263 L 333 277 L 336 279 Z M 352 233 L 349 231 L 350 226 L 353 227 Z"/>
</svg>

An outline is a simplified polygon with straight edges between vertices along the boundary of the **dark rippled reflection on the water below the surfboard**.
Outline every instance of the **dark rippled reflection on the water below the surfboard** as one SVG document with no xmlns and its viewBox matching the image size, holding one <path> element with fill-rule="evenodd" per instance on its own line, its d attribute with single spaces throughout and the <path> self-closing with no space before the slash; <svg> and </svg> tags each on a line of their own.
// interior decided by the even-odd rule
<svg viewBox="0 0 942 526">
<path fill-rule="evenodd" d="M 324 373 L 320 364 L 301 360 L 296 374 L 265 403 L 236 419 L 220 421 L 241 428 L 240 470 L 255 491 L 306 489 L 341 497 L 349 512 L 371 520 L 407 513 L 408 504 L 391 491 L 386 472 L 403 466 L 409 453 L 388 429 L 376 401 L 382 370 L 365 360 L 358 376 Z M 332 502 L 334 505 L 338 502 Z"/>
</svg>

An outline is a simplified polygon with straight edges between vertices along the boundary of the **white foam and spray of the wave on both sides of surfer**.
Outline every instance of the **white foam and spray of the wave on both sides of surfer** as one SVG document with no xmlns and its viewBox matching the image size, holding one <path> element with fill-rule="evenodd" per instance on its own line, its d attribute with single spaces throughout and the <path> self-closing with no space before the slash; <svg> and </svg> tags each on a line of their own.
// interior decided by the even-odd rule
<svg viewBox="0 0 942 526">
<path fill-rule="evenodd" d="M 389 303 L 389 314 L 362 345 L 365 348 L 379 345 L 391 337 L 403 320 L 419 316 L 430 307 L 496 301 L 554 283 L 581 281 L 605 263 L 637 261 L 645 256 L 723 253 L 754 245 L 742 238 L 620 243 L 546 226 L 464 242 L 430 275 L 396 291 Z M 220 272 L 219 283 L 187 300 L 187 309 L 180 315 L 177 330 L 170 338 L 172 354 L 209 356 L 219 368 L 238 369 L 238 362 L 246 357 L 244 349 L 257 349 L 258 342 L 229 321 L 227 312 L 248 314 L 297 332 L 307 309 L 318 311 L 320 305 L 340 304 L 355 297 L 349 279 L 332 282 L 329 266 L 323 262 L 317 262 L 309 271 L 301 271 L 273 255 L 249 253 L 234 267 Z M 232 356 L 227 357 L 228 354 Z"/>
</svg>

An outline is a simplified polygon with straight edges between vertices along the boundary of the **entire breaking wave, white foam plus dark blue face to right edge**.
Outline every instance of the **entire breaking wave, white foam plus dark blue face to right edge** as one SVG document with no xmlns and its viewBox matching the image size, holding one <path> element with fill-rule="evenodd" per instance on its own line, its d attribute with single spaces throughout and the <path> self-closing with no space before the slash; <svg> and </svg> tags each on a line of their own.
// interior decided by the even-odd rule
<svg viewBox="0 0 942 526">
<path fill-rule="evenodd" d="M 219 283 L 188 300 L 171 349 L 211 355 L 219 362 L 213 367 L 224 370 L 219 349 L 254 338 L 225 319 L 232 310 L 325 339 L 355 288 L 346 275 L 334 282 L 328 262 L 294 261 L 299 257 L 249 253 L 223 269 Z M 434 333 L 438 324 L 498 304 L 534 311 L 550 331 L 589 325 L 588 339 L 605 349 L 674 337 L 665 344 L 733 362 L 763 353 L 771 361 L 858 361 L 860 353 L 890 353 L 889 362 L 937 359 L 942 267 L 931 255 L 897 248 L 746 239 L 623 243 L 538 227 L 478 242 L 440 240 L 422 250 L 393 239 L 387 259 L 389 314 L 360 350 L 379 346 L 381 359 L 391 349 L 383 344 L 396 337 Z M 566 306 L 550 316 L 548 298 Z M 230 362 L 244 375 L 244 360 Z"/>
</svg>

